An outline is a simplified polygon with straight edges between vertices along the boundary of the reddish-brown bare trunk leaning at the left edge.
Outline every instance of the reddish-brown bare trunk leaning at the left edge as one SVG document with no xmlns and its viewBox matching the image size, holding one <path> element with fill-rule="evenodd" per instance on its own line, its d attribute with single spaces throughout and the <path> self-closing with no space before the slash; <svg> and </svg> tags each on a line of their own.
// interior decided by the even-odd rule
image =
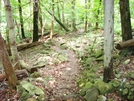
<svg viewBox="0 0 134 101">
<path fill-rule="evenodd" d="M 13 70 L 11 61 L 9 59 L 9 55 L 7 53 L 6 46 L 4 44 L 4 40 L 1 36 L 1 33 L 0 33 L 0 58 L 2 58 L 2 64 L 8 80 L 9 88 L 10 90 L 15 89 L 18 80 Z"/>
</svg>

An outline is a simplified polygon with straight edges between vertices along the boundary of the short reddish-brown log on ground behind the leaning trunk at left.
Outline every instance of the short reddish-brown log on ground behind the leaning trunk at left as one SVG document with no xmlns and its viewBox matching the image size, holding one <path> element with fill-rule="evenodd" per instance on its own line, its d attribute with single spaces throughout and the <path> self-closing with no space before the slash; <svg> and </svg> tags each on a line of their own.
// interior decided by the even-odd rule
<svg viewBox="0 0 134 101">
<path fill-rule="evenodd" d="M 22 80 L 23 78 L 28 77 L 28 72 L 25 69 L 23 69 L 23 70 L 16 70 L 15 74 L 16 74 L 18 80 Z M 0 82 L 4 81 L 6 79 L 7 79 L 7 77 L 6 77 L 5 73 L 0 74 Z"/>
</svg>

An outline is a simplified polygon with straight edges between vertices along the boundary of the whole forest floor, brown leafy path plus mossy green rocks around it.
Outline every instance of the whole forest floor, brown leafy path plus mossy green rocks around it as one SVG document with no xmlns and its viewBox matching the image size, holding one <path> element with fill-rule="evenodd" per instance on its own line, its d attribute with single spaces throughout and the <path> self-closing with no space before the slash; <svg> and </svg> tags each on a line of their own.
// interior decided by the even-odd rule
<svg viewBox="0 0 134 101">
<path fill-rule="evenodd" d="M 102 47 L 103 35 L 78 31 L 21 51 L 26 63 L 41 68 L 13 93 L 3 81 L 0 101 L 133 101 L 134 57 L 115 50 L 115 79 L 104 83 Z"/>
</svg>

